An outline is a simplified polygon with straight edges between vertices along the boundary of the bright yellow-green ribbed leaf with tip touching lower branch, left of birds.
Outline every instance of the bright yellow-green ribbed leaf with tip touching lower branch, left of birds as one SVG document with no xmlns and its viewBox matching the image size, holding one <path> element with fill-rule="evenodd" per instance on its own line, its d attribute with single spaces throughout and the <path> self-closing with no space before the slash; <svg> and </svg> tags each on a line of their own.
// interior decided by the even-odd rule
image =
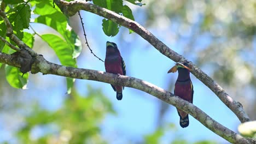
<svg viewBox="0 0 256 144">
<path fill-rule="evenodd" d="M 41 37 L 55 51 L 62 65 L 77 67 L 77 62 L 72 57 L 73 50 L 65 40 L 54 34 L 43 34 Z"/>
</svg>

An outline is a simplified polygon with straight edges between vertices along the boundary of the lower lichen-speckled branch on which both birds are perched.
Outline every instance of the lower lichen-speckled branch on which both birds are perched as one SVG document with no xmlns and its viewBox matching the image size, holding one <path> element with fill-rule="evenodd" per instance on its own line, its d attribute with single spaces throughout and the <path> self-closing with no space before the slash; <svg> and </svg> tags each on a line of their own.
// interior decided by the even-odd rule
<svg viewBox="0 0 256 144">
<path fill-rule="evenodd" d="M 0 52 L 0 62 L 8 65 L 13 65 L 14 67 L 20 67 L 21 63 L 18 59 L 14 58 L 13 55 L 7 55 Z M 122 85 L 125 87 L 131 87 L 139 89 L 143 92 L 154 95 L 156 98 L 159 98 L 165 101 L 168 104 L 171 104 L 178 109 L 181 109 L 185 112 L 188 112 L 191 116 L 201 122 L 205 127 L 212 130 L 217 135 L 223 137 L 232 143 L 255 143 L 253 139 L 247 139 L 241 135 L 236 134 L 234 131 L 224 127 L 222 124 L 214 121 L 210 116 L 205 112 L 200 110 L 195 105 L 185 101 L 174 94 L 165 91 L 164 89 L 153 85 L 147 81 L 136 79 L 135 77 L 123 76 L 123 75 L 114 75 L 106 73 L 103 71 L 90 70 L 90 69 L 80 69 L 65 67 L 59 64 L 48 62 L 44 59 L 43 56 L 36 56 L 34 58 L 34 63 L 32 65 L 31 73 L 36 74 L 41 72 L 43 74 L 53 74 L 60 75 L 65 77 L 71 77 L 74 79 L 84 79 L 84 80 L 93 80 L 106 82 L 113 85 Z"/>
</svg>

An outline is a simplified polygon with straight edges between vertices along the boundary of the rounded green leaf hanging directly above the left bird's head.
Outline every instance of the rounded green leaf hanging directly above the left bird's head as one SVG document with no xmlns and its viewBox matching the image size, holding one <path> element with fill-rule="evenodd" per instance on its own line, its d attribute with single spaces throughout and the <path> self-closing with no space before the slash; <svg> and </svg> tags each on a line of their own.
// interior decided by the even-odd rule
<svg viewBox="0 0 256 144">
<path fill-rule="evenodd" d="M 103 31 L 106 35 L 108 35 L 108 37 L 114 37 L 118 34 L 119 27 L 117 23 L 106 19 L 103 19 L 102 22 Z"/>
</svg>

